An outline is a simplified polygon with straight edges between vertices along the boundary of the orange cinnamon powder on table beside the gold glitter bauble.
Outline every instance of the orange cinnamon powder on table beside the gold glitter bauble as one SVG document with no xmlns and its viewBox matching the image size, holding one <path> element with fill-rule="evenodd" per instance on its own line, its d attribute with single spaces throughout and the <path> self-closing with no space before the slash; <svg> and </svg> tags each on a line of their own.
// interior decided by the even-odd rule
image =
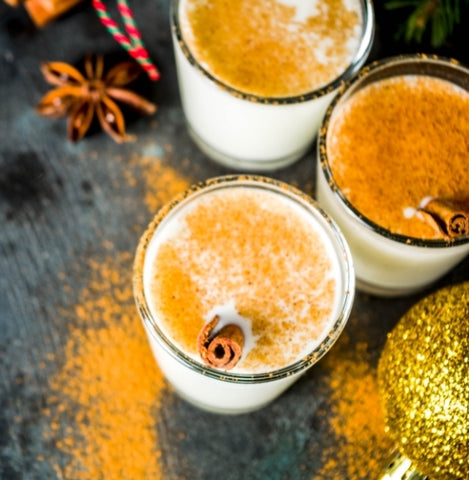
<svg viewBox="0 0 469 480">
<path fill-rule="evenodd" d="M 322 467 L 313 480 L 378 478 L 393 448 L 384 432 L 376 369 L 365 343 L 345 349 L 343 334 L 324 358 L 331 394 L 324 415 L 333 444 L 321 452 Z"/>
</svg>

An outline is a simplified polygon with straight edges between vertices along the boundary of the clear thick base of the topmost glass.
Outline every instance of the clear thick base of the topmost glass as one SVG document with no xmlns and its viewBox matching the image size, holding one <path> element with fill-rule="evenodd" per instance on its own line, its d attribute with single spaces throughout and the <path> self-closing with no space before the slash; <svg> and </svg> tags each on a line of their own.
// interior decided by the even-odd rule
<svg viewBox="0 0 469 480">
<path fill-rule="evenodd" d="M 244 172 L 263 172 L 263 171 L 272 171 L 278 170 L 280 168 L 288 167 L 289 165 L 295 163 L 299 160 L 309 149 L 302 148 L 290 155 L 287 155 L 282 158 L 275 158 L 272 160 L 254 160 L 246 158 L 235 158 L 226 153 L 216 150 L 211 145 L 209 145 L 205 140 L 203 140 L 199 134 L 187 123 L 187 129 L 192 140 L 199 147 L 199 149 L 205 153 L 210 159 L 214 162 L 219 163 L 225 167 L 234 168 L 235 170 L 244 171 Z"/>
</svg>

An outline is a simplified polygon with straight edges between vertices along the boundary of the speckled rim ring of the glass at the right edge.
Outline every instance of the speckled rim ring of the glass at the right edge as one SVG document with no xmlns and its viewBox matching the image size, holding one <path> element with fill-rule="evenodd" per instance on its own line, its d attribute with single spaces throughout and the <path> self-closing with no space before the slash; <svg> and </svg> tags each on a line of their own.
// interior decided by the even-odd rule
<svg viewBox="0 0 469 480">
<path fill-rule="evenodd" d="M 392 73 L 392 70 L 399 67 L 399 71 Z M 420 67 L 420 69 L 418 69 Z M 435 67 L 439 70 L 436 71 Z M 391 70 L 392 69 L 392 70 Z M 448 75 L 443 75 L 443 70 Z M 452 74 L 450 75 L 449 72 Z M 327 135 L 331 118 L 350 96 L 361 88 L 373 83 L 374 81 L 384 80 L 394 76 L 401 75 L 425 75 L 440 78 L 449 81 L 469 92 L 469 69 L 453 58 L 442 57 L 439 55 L 429 55 L 424 53 L 396 55 L 380 60 L 376 60 L 366 67 L 362 68 L 358 74 L 345 82 L 339 89 L 337 95 L 330 103 L 324 116 L 321 128 L 319 129 L 317 148 L 318 161 L 331 192 L 339 199 L 350 217 L 355 218 L 361 225 L 367 229 L 398 243 L 412 245 L 417 247 L 429 248 L 447 248 L 469 243 L 469 235 L 461 237 L 451 237 L 448 239 L 422 239 L 393 233 L 390 230 L 378 225 L 368 217 L 360 213 L 354 205 L 344 195 L 337 182 L 334 179 L 329 162 L 327 159 Z M 456 82 L 455 80 L 459 80 Z"/>
</svg>

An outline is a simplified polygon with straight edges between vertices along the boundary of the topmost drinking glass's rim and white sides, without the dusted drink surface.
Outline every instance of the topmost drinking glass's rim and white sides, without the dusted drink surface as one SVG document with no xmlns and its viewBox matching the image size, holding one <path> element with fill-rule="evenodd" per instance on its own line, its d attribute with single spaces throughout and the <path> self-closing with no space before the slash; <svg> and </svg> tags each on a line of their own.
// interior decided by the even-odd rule
<svg viewBox="0 0 469 480">
<path fill-rule="evenodd" d="M 243 171 L 285 167 L 302 157 L 315 140 L 338 87 L 358 71 L 371 50 L 375 25 L 372 2 L 356 2 L 362 30 L 355 54 L 340 74 L 314 91 L 261 96 L 230 86 L 197 60 L 181 21 L 184 2 L 173 0 L 170 15 L 179 90 L 189 133 L 200 149 L 216 162 Z"/>
</svg>

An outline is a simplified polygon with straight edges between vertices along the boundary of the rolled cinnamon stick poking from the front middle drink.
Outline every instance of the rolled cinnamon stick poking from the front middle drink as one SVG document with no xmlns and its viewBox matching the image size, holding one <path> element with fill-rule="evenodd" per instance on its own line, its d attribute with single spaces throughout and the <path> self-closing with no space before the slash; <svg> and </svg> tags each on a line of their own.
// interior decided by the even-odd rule
<svg viewBox="0 0 469 480">
<path fill-rule="evenodd" d="M 197 339 L 197 348 L 202 360 L 214 368 L 232 369 L 241 358 L 244 334 L 235 324 L 228 324 L 216 331 L 220 317 L 205 324 Z"/>
</svg>

